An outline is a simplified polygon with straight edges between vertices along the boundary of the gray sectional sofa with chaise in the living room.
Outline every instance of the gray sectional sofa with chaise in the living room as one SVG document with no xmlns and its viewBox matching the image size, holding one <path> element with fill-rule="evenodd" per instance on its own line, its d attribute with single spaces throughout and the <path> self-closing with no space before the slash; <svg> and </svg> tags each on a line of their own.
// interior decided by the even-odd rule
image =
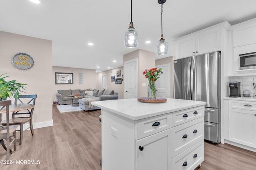
<svg viewBox="0 0 256 170">
<path fill-rule="evenodd" d="M 116 100 L 118 99 L 118 93 L 114 92 L 114 90 L 57 90 L 56 96 L 58 98 L 58 102 L 60 105 L 62 104 L 72 104 L 72 98 L 74 98 L 74 94 L 78 93 L 78 97 L 82 98 L 78 100 L 79 106 L 81 109 L 88 111 L 93 109 L 100 109 L 99 107 L 91 105 L 93 101 L 102 101 L 102 100 Z"/>
</svg>

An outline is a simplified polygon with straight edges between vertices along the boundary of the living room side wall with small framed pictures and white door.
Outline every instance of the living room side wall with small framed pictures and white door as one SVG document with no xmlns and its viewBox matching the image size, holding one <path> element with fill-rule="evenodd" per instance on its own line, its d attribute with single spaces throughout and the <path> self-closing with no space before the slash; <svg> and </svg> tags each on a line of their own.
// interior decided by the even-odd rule
<svg viewBox="0 0 256 170">
<path fill-rule="evenodd" d="M 118 70 L 121 70 L 121 77 L 116 76 L 116 72 Z M 102 78 L 102 75 L 104 74 L 106 74 L 107 76 L 107 90 L 114 90 L 114 92 L 118 93 L 118 99 L 124 99 L 124 82 L 122 81 L 122 84 L 116 84 L 115 81 L 111 82 L 111 76 L 115 76 L 115 79 L 122 78 L 122 75 L 124 74 L 123 67 L 118 67 L 118 68 L 97 73 L 96 89 L 101 89 L 101 78 Z"/>
</svg>

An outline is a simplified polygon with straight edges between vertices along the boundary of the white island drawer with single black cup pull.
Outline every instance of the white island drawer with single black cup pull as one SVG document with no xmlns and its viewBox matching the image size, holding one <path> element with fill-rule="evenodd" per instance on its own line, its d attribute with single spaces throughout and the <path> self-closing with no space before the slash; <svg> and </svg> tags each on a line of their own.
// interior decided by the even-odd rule
<svg viewBox="0 0 256 170">
<path fill-rule="evenodd" d="M 135 139 L 138 140 L 171 128 L 171 119 L 171 113 L 167 113 L 135 121 Z"/>
</svg>

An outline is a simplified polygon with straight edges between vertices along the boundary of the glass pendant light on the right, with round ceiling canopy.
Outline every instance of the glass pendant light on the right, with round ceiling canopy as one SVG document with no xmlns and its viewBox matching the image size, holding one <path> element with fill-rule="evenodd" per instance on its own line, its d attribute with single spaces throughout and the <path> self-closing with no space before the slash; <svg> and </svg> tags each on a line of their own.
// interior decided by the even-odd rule
<svg viewBox="0 0 256 170">
<path fill-rule="evenodd" d="M 158 4 L 161 4 L 161 27 L 162 27 L 162 34 L 161 39 L 158 41 L 156 45 L 156 53 L 158 55 L 164 55 L 168 53 L 168 43 L 164 39 L 163 35 L 163 4 L 166 0 L 158 0 Z"/>
</svg>

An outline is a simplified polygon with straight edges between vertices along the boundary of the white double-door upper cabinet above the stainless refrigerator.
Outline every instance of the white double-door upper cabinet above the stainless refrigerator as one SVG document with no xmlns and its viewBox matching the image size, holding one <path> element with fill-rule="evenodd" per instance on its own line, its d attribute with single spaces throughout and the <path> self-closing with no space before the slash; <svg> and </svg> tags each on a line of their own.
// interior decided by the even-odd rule
<svg viewBox="0 0 256 170">
<path fill-rule="evenodd" d="M 220 51 L 220 28 L 198 31 L 176 39 L 177 58 Z"/>
</svg>

